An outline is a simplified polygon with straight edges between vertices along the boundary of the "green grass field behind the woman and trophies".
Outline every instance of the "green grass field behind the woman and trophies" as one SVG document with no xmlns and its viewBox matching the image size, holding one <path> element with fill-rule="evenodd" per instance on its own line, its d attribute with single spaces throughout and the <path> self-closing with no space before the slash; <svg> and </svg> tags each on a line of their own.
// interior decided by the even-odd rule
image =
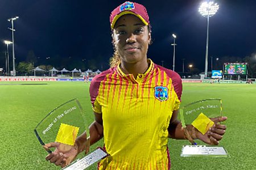
<svg viewBox="0 0 256 170">
<path fill-rule="evenodd" d="M 80 100 L 93 121 L 89 84 L 14 85 L 17 83 L 27 82 L 0 82 L 0 169 L 59 169 L 44 160 L 47 152 L 33 130 L 47 113 L 73 98 Z M 181 158 L 181 147 L 189 143 L 170 139 L 171 169 L 256 169 L 256 84 L 183 84 L 182 105 L 212 97 L 222 99 L 223 113 L 228 116 L 228 129 L 220 145 L 225 146 L 229 157 Z M 102 144 L 101 140 L 92 148 Z"/>
</svg>

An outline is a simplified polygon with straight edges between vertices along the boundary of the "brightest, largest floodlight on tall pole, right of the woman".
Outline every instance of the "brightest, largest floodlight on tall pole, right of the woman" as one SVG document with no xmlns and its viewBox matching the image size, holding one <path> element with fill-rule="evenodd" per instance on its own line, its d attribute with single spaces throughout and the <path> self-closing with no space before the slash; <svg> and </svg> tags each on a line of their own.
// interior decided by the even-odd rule
<svg viewBox="0 0 256 170">
<path fill-rule="evenodd" d="M 205 53 L 205 70 L 204 70 L 204 77 L 207 78 L 207 71 L 208 71 L 208 43 L 209 43 L 209 18 L 216 14 L 218 11 L 218 4 L 212 1 L 210 2 L 203 2 L 199 7 L 199 12 L 202 16 L 207 17 L 207 47 Z"/>
</svg>

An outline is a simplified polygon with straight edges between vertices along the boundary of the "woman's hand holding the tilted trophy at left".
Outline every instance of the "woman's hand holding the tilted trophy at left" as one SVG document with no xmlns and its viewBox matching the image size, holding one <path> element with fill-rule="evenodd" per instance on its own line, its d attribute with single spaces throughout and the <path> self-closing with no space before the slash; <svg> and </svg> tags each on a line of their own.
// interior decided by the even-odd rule
<svg viewBox="0 0 256 170">
<path fill-rule="evenodd" d="M 57 166 L 64 168 L 69 165 L 77 155 L 77 148 L 75 146 L 66 145 L 59 142 L 46 143 L 43 148 L 49 151 L 49 148 L 55 147 L 55 151 L 46 156 L 46 160 L 54 163 Z"/>
</svg>

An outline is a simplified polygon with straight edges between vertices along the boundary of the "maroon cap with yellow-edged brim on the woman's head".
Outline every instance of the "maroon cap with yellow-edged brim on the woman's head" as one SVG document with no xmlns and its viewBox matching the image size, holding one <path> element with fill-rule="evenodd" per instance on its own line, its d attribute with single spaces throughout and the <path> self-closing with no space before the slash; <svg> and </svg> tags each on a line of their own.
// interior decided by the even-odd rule
<svg viewBox="0 0 256 170">
<path fill-rule="evenodd" d="M 145 25 L 148 25 L 149 22 L 149 17 L 147 15 L 147 10 L 146 8 L 135 2 L 129 2 L 126 1 L 125 3 L 122 3 L 118 7 L 116 7 L 110 14 L 110 26 L 113 29 L 115 22 L 117 22 L 118 18 L 125 14 L 133 14 L 137 16 L 139 19 L 142 20 L 142 22 Z"/>
</svg>

